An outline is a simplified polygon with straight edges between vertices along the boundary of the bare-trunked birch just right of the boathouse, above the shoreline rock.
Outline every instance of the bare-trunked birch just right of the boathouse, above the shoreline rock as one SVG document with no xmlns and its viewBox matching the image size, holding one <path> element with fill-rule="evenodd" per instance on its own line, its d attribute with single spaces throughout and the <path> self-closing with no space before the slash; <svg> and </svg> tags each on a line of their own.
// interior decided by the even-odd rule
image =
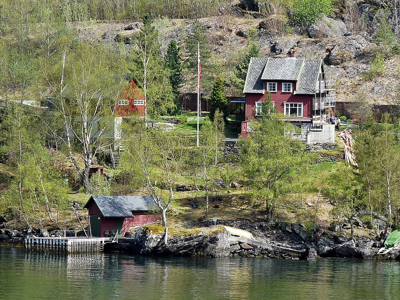
<svg viewBox="0 0 400 300">
<path fill-rule="evenodd" d="M 166 226 L 166 213 L 188 155 L 187 138 L 142 127 L 136 134 L 127 135 L 124 144 L 122 166 L 135 174 L 144 193 L 152 197 L 161 210 L 162 226 Z"/>
</svg>

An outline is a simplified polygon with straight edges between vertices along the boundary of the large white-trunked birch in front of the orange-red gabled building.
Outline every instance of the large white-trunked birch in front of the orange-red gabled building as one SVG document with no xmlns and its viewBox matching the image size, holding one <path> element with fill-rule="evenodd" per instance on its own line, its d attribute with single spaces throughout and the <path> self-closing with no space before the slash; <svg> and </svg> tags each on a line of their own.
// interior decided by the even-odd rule
<svg viewBox="0 0 400 300">
<path fill-rule="evenodd" d="M 122 74 L 112 75 L 110 54 L 80 43 L 74 51 L 64 49 L 56 64 L 41 64 L 54 107 L 42 118 L 46 134 L 64 145 L 85 188 L 96 154 L 112 145 L 116 98 L 124 84 Z M 82 150 L 84 168 L 74 156 L 76 149 Z"/>
</svg>

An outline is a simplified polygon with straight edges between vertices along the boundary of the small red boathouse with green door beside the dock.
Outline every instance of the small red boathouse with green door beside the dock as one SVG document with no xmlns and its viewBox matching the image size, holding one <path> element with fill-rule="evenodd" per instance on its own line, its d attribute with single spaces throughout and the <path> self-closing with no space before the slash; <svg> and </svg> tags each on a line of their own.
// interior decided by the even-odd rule
<svg viewBox="0 0 400 300">
<path fill-rule="evenodd" d="M 124 236 L 132 227 L 160 219 L 150 196 L 91 196 L 84 208 L 89 211 L 92 236 L 107 237 L 117 230 Z"/>
</svg>

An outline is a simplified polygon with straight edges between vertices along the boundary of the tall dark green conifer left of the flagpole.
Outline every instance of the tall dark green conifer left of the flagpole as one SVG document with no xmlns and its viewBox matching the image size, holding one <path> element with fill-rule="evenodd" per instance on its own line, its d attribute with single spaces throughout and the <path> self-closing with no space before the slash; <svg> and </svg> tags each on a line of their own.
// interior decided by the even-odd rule
<svg viewBox="0 0 400 300">
<path fill-rule="evenodd" d="M 172 40 L 168 46 L 165 64 L 170 71 L 172 91 L 178 96 L 178 90 L 182 84 L 182 56 L 180 55 L 180 48 L 176 45 L 176 40 Z"/>
</svg>

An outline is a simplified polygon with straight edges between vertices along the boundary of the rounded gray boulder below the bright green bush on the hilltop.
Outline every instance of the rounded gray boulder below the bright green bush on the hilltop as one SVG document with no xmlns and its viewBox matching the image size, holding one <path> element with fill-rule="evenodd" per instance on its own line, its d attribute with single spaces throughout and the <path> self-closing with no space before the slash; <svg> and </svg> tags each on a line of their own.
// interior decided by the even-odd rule
<svg viewBox="0 0 400 300">
<path fill-rule="evenodd" d="M 347 32 L 346 24 L 340 20 L 334 20 L 325 17 L 317 24 L 311 25 L 307 29 L 310 38 L 332 38 L 333 36 L 342 36 Z"/>
</svg>

